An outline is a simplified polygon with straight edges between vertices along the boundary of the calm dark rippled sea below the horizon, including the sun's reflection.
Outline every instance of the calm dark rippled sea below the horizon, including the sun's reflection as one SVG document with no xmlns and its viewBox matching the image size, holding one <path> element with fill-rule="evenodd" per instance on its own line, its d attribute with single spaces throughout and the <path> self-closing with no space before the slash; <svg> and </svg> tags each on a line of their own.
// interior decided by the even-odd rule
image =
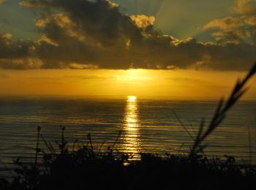
<svg viewBox="0 0 256 190">
<path fill-rule="evenodd" d="M 10 163 L 16 157 L 34 156 L 37 126 L 48 142 L 60 140 L 60 125 L 68 140 L 86 142 L 91 133 L 95 146 L 116 144 L 127 153 L 178 153 L 189 151 L 192 139 L 173 111 L 195 134 L 200 121 L 211 119 L 217 101 L 172 101 L 124 98 L 0 97 L 0 159 Z M 208 138 L 206 153 L 225 154 L 256 161 L 256 102 L 240 102 L 225 122 Z M 250 134 L 250 135 L 249 135 Z M 251 140 L 249 142 L 249 136 Z M 41 142 L 41 147 L 44 148 Z M 252 158 L 251 158 L 251 156 Z M 136 155 L 135 155 L 136 158 Z"/>
</svg>

